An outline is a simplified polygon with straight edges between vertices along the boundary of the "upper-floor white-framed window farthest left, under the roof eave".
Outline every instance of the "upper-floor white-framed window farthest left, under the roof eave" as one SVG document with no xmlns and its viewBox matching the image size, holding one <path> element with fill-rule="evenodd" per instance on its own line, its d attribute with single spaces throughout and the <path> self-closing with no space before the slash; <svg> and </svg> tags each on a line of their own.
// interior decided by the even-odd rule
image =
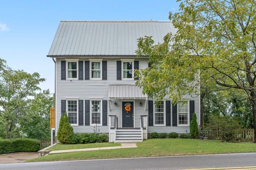
<svg viewBox="0 0 256 170">
<path fill-rule="evenodd" d="M 78 59 L 66 59 L 66 79 L 78 79 Z"/>
</svg>

